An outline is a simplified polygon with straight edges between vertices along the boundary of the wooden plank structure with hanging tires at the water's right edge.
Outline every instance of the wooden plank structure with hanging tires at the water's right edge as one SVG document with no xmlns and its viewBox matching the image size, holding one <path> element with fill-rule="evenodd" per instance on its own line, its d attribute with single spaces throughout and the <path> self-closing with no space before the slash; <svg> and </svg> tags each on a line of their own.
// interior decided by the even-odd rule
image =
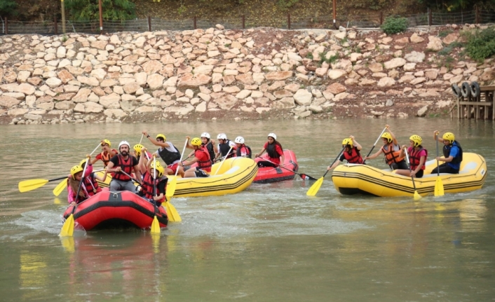
<svg viewBox="0 0 495 302">
<path fill-rule="evenodd" d="M 473 82 L 475 83 L 475 82 Z M 463 83 L 463 85 L 466 83 Z M 457 87 L 457 86 L 456 86 Z M 463 87 L 464 88 L 464 87 Z M 463 88 L 456 88 L 457 90 Z M 462 94 L 459 92 L 456 94 L 456 89 L 452 85 L 454 95 L 457 97 L 457 101 L 452 104 L 450 108 L 450 117 L 453 117 L 453 109 L 457 107 L 457 118 L 475 118 L 495 121 L 495 106 L 494 106 L 494 94 L 495 85 L 480 86 L 479 93 L 474 93 L 471 90 L 470 93 Z"/>
</svg>

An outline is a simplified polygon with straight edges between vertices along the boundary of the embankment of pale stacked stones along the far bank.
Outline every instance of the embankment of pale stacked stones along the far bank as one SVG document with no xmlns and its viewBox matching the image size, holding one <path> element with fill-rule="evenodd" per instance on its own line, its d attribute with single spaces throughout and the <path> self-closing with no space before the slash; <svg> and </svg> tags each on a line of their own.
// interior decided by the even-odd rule
<svg viewBox="0 0 495 302">
<path fill-rule="evenodd" d="M 1 123 L 447 114 L 451 85 L 493 85 L 447 26 L 122 32 L 0 39 Z"/>
</svg>

